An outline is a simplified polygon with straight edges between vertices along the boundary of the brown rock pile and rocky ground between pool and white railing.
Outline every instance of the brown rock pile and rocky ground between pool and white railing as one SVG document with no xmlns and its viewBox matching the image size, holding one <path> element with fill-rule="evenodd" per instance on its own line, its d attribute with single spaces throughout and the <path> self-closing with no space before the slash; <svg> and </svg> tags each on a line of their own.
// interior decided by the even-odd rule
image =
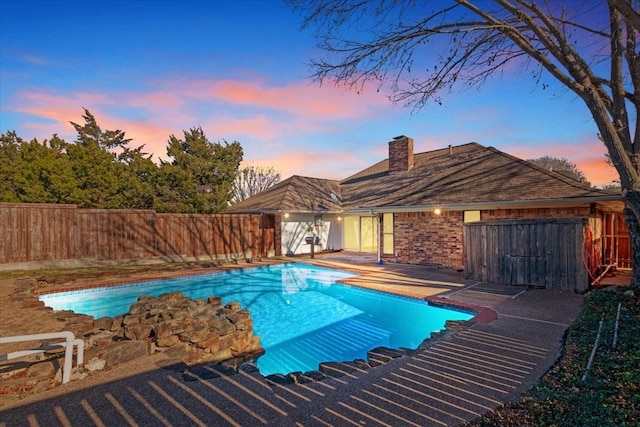
<svg viewBox="0 0 640 427">
<path fill-rule="evenodd" d="M 145 358 L 158 353 L 162 353 L 164 360 L 187 366 L 224 363 L 231 369 L 264 353 L 260 338 L 253 333 L 248 310 L 242 309 L 237 302 L 223 305 L 216 296 L 206 301 L 193 300 L 174 292 L 159 297 L 141 296 L 126 314 L 94 319 L 45 307 L 33 296 L 41 282 L 34 278 L 14 281 L 14 291 L 5 297 L 19 304 L 19 310 L 24 314 L 31 313 L 33 327 L 21 326 L 16 329 L 19 332 L 8 335 L 38 333 L 44 329 L 45 322 L 49 331 L 73 332 L 76 338 L 84 341 L 85 353 L 84 365 L 73 368 L 72 381 L 93 371 L 110 370 L 136 360 L 145 363 Z M 11 320 L 10 316 L 7 318 Z M 10 328 L 10 323 L 5 322 L 4 326 Z M 13 347 L 3 346 L 2 351 L 46 344 L 32 341 Z M 60 384 L 63 357 L 64 349 L 57 348 L 3 362 L 0 364 L 0 397 L 37 393 Z"/>
</svg>

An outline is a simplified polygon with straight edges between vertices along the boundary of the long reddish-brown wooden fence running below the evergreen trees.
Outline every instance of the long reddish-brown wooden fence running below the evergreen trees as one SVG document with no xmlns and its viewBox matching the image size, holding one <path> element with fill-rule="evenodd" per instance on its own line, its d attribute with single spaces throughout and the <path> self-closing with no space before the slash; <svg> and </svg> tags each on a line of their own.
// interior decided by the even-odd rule
<svg viewBox="0 0 640 427">
<path fill-rule="evenodd" d="M 268 215 L 159 214 L 0 203 L 0 236 L 0 264 L 216 260 L 275 252 L 274 221 Z"/>
</svg>

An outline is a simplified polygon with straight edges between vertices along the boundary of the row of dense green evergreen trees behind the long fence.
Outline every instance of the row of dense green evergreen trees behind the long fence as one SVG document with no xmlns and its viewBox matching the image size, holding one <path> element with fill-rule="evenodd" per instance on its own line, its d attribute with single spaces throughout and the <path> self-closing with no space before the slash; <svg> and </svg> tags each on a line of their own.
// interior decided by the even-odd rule
<svg viewBox="0 0 640 427">
<path fill-rule="evenodd" d="M 216 213 L 231 199 L 240 143 L 210 143 L 200 128 L 171 136 L 172 161 L 154 163 L 131 148 L 121 130 L 103 130 L 84 110 L 84 124 L 71 122 L 75 143 L 53 135 L 25 142 L 15 132 L 0 135 L 0 202 L 69 203 L 82 208 L 156 209 Z"/>
</svg>

